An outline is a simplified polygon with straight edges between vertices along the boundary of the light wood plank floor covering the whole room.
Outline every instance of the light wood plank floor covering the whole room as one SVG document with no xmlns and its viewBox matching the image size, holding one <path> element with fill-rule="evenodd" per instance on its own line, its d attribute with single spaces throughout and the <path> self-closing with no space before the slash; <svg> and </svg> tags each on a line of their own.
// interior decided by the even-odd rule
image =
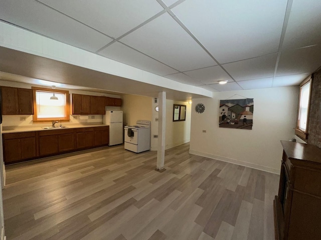
<svg viewBox="0 0 321 240">
<path fill-rule="evenodd" d="M 188 153 L 102 147 L 7 166 L 7 239 L 274 239 L 279 176 Z"/>
</svg>

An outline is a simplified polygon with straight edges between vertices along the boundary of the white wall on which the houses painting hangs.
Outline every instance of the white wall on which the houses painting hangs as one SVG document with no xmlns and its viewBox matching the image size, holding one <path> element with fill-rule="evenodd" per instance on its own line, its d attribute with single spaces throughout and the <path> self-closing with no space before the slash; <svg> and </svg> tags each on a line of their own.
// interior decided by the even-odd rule
<svg viewBox="0 0 321 240">
<path fill-rule="evenodd" d="M 254 98 L 252 129 L 220 128 L 220 100 L 242 96 Z M 213 98 L 193 99 L 192 109 L 199 102 L 205 111 L 192 111 L 191 153 L 279 173 L 280 140 L 294 137 L 297 86 L 215 92 Z"/>
</svg>

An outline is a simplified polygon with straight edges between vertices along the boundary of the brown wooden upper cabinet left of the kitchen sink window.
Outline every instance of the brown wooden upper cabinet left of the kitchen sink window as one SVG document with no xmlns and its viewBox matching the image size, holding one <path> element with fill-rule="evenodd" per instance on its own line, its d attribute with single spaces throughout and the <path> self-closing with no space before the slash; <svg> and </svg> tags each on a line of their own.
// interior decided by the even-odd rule
<svg viewBox="0 0 321 240">
<path fill-rule="evenodd" d="M 3 114 L 34 114 L 32 99 L 32 89 L 3 86 Z"/>
</svg>

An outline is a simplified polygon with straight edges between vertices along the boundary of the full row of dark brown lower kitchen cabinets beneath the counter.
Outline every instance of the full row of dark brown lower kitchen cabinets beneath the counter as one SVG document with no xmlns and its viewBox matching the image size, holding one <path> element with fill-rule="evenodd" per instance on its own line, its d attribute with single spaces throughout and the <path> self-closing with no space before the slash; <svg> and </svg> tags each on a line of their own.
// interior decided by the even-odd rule
<svg viewBox="0 0 321 240">
<path fill-rule="evenodd" d="M 108 145 L 109 126 L 3 133 L 5 163 Z"/>
</svg>

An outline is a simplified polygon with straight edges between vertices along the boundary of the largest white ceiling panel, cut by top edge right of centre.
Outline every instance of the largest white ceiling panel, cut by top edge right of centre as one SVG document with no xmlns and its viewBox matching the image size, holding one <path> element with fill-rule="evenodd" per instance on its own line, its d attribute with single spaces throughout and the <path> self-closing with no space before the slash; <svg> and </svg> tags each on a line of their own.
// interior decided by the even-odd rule
<svg viewBox="0 0 321 240">
<path fill-rule="evenodd" d="M 220 63 L 227 63 L 277 52 L 286 3 L 186 0 L 172 10 Z"/>
</svg>

